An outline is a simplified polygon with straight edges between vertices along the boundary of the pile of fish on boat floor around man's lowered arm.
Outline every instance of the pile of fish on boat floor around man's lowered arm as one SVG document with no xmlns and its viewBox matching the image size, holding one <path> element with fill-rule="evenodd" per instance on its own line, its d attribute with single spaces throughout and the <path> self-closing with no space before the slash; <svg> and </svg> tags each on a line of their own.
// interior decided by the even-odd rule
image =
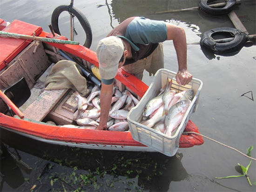
<svg viewBox="0 0 256 192">
<path fill-rule="evenodd" d="M 88 97 L 82 97 L 77 91 L 74 95 L 77 100 L 77 111 L 74 113 L 74 121 L 78 124 L 65 125 L 62 127 L 96 129 L 100 122 L 101 105 L 100 105 L 99 86 L 94 86 Z M 125 90 L 121 93 L 116 86 L 113 87 L 113 97 L 109 111 L 107 130 L 108 131 L 128 131 L 128 112 L 139 103 L 132 93 Z"/>
</svg>

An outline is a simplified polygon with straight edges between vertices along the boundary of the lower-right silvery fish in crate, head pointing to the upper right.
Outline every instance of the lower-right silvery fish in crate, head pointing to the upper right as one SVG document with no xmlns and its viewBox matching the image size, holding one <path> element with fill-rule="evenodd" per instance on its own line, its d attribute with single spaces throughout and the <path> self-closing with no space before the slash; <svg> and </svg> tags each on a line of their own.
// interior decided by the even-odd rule
<svg viewBox="0 0 256 192">
<path fill-rule="evenodd" d="M 164 121 L 166 129 L 165 134 L 167 136 L 172 136 L 175 134 L 173 132 L 181 124 L 184 114 L 189 108 L 190 103 L 191 100 L 183 100 L 170 107 L 168 110 L 168 115 Z"/>
</svg>

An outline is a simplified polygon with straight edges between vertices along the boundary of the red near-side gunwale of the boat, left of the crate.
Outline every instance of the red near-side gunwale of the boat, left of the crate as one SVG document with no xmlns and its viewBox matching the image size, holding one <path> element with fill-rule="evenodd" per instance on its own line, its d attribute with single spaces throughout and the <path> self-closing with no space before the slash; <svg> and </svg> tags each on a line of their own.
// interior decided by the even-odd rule
<svg viewBox="0 0 256 192">
<path fill-rule="evenodd" d="M 111 132 L 48 126 L 16 119 L 2 113 L 0 113 L 0 119 L 1 126 L 43 139 L 87 144 L 144 146 L 132 139 L 130 132 Z"/>
</svg>

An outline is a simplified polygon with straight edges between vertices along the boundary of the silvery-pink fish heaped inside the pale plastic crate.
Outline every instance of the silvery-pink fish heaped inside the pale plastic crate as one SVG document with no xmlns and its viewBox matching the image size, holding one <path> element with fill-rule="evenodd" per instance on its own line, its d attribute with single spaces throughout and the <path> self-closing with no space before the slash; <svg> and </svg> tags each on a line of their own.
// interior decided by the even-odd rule
<svg viewBox="0 0 256 192">
<path fill-rule="evenodd" d="M 141 124 L 151 127 L 167 136 L 173 136 L 182 122 L 184 114 L 194 98 L 194 90 L 180 93 L 171 90 L 172 80 L 166 81 L 165 87 L 155 98 L 148 101 L 142 113 Z"/>
</svg>

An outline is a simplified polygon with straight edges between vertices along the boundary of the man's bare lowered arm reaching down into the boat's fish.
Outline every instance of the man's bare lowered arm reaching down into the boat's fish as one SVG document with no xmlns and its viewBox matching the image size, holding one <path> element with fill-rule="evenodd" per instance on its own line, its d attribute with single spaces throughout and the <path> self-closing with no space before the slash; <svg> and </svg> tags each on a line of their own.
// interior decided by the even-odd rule
<svg viewBox="0 0 256 192">
<path fill-rule="evenodd" d="M 113 84 L 106 85 L 101 83 L 101 116 L 100 124 L 97 127 L 98 130 L 107 130 L 108 113 L 111 106 L 111 99 L 113 95 Z"/>
</svg>

